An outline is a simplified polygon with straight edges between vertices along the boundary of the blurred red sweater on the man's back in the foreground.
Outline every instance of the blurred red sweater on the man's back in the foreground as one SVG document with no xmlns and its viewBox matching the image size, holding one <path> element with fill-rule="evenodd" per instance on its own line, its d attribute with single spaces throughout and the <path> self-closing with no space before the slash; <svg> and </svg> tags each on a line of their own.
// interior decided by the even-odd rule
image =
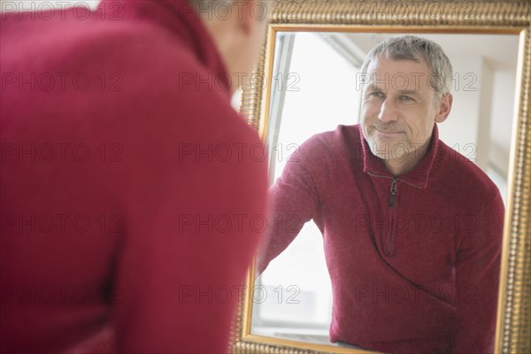
<svg viewBox="0 0 531 354">
<path fill-rule="evenodd" d="M 0 352 L 227 351 L 266 162 L 183 4 L 1 14 Z"/>
</svg>

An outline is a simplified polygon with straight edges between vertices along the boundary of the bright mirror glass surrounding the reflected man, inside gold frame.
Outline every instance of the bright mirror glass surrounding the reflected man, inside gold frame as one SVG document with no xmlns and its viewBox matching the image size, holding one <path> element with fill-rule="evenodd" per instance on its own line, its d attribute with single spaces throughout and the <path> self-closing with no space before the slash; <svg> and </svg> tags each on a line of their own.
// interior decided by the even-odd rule
<svg viewBox="0 0 531 354">
<path fill-rule="evenodd" d="M 360 66 L 390 35 L 397 34 L 277 32 L 267 78 L 271 94 L 264 101 L 271 184 L 312 135 L 360 123 Z M 518 35 L 415 35 L 439 43 L 453 66 L 453 106 L 438 124 L 441 140 L 480 166 L 506 203 Z M 310 221 L 263 273 L 256 272 L 250 332 L 336 345 L 328 337 L 331 316 L 323 237 Z"/>
</svg>

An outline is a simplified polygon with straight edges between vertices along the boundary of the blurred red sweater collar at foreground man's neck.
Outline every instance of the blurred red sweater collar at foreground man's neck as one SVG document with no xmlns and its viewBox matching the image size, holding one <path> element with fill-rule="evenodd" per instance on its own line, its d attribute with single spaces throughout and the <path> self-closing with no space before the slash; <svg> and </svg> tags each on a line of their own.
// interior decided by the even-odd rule
<svg viewBox="0 0 531 354">
<path fill-rule="evenodd" d="M 98 11 L 109 19 L 146 21 L 165 28 L 213 73 L 220 87 L 229 87 L 227 67 L 219 50 L 188 0 L 102 0 Z M 230 90 L 224 92 L 230 99 Z"/>
</svg>

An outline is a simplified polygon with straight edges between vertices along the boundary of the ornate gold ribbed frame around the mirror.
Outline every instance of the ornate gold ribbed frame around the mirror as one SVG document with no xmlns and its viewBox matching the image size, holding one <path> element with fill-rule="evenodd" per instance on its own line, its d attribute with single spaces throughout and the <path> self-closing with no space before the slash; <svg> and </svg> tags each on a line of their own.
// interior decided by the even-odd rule
<svg viewBox="0 0 531 354">
<path fill-rule="evenodd" d="M 408 1 L 401 1 L 407 5 Z M 380 4 L 380 6 L 378 6 Z M 271 85 L 264 77 L 273 72 L 277 32 L 341 31 L 385 33 L 466 33 L 519 35 L 514 124 L 508 204 L 504 219 L 504 249 L 496 326 L 496 353 L 531 352 L 531 4 L 522 1 L 414 1 L 415 12 L 389 13 L 384 1 L 307 0 L 279 1 L 270 16 L 266 42 L 252 87 L 243 88 L 241 112 L 265 142 Z M 397 3 L 396 3 L 397 4 Z M 440 17 L 428 16 L 439 6 Z M 405 7 L 403 7 L 405 10 Z M 290 342 L 250 334 L 254 265 L 247 280 L 233 327 L 233 353 L 362 353 L 363 350 Z"/>
</svg>

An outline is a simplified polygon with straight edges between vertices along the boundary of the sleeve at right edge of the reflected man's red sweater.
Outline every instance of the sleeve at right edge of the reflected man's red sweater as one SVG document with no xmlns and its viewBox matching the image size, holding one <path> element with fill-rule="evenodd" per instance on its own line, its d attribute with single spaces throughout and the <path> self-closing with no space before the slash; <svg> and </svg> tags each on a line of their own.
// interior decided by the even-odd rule
<svg viewBox="0 0 531 354">
<path fill-rule="evenodd" d="M 458 326 L 452 354 L 494 352 L 504 204 L 496 196 L 477 215 L 468 215 L 457 253 Z"/>
</svg>

